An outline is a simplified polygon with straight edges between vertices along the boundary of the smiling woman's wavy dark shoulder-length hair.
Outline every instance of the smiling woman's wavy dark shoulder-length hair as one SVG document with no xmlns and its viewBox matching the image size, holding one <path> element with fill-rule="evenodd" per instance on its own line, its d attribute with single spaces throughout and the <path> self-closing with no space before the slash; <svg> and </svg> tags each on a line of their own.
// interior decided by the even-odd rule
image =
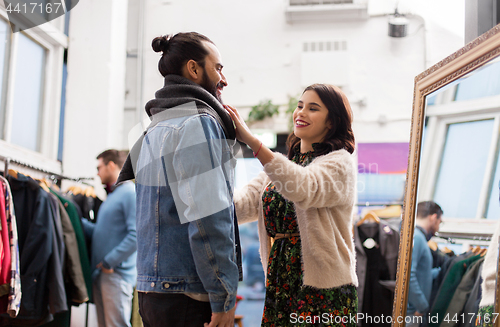
<svg viewBox="0 0 500 327">
<path fill-rule="evenodd" d="M 327 119 L 331 123 L 331 129 L 326 134 L 322 145 L 315 149 L 314 156 L 320 156 L 329 152 L 346 149 L 349 153 L 354 152 L 355 142 L 352 132 L 352 110 L 346 95 L 336 86 L 329 84 L 313 84 L 304 90 L 314 91 L 320 97 L 328 109 Z M 295 155 L 295 147 L 300 143 L 294 132 L 288 135 L 288 158 L 292 159 Z"/>
</svg>

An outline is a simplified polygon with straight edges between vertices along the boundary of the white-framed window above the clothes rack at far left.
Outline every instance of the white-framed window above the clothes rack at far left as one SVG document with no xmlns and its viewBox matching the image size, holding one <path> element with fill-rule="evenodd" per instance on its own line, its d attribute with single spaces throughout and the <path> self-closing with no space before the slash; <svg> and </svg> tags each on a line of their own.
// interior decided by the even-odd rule
<svg viewBox="0 0 500 327">
<path fill-rule="evenodd" d="M 67 36 L 61 16 L 19 31 L 0 9 L 0 154 L 59 172 L 57 161 Z"/>
</svg>

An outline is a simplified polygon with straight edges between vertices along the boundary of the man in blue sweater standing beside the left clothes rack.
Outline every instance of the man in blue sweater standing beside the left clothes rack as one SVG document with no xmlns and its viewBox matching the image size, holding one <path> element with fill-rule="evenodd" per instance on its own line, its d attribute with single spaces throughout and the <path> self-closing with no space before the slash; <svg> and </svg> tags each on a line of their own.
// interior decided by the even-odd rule
<svg viewBox="0 0 500 327">
<path fill-rule="evenodd" d="M 115 185 L 127 152 L 106 150 L 97 156 L 97 175 L 108 193 L 94 224 L 82 219 L 91 240 L 93 300 L 99 327 L 130 326 L 136 283 L 135 186 Z"/>
</svg>

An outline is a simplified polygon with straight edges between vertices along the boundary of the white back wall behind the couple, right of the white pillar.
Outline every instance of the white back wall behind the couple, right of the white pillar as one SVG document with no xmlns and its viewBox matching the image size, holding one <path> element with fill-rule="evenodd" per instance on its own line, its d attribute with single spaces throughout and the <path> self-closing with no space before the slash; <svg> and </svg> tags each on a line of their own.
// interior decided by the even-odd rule
<svg viewBox="0 0 500 327">
<path fill-rule="evenodd" d="M 416 15 L 409 19 L 407 37 L 391 38 L 387 35 L 388 18 L 380 14 L 391 13 L 393 9 L 386 10 L 392 5 L 383 2 L 371 1 L 370 10 L 378 16 L 364 21 L 289 24 L 283 0 L 146 1 L 147 19 L 141 43 L 144 103 L 163 85 L 157 70 L 160 55 L 150 45 L 159 35 L 198 31 L 210 37 L 221 52 L 228 79 L 224 101 L 241 108 L 243 113 L 261 100 L 271 99 L 285 105 L 288 96 L 300 94 L 305 86 L 301 85 L 301 53 L 305 42 L 340 40 L 347 42 L 346 60 L 332 60 L 324 65 L 348 71 L 349 82 L 344 90 L 354 110 L 358 142 L 408 141 L 414 77 L 458 49 L 461 41 L 450 31 L 432 30 L 429 23 L 424 26 L 424 20 Z M 136 8 L 137 0 L 131 0 L 130 6 Z M 129 38 L 129 51 L 136 53 L 136 25 L 129 24 L 129 30 L 134 35 Z M 436 30 L 439 33 L 433 35 Z M 129 58 L 131 69 L 127 71 L 130 104 L 137 103 L 135 61 Z M 318 82 L 336 80 L 332 77 L 331 81 Z M 136 110 L 143 112 L 143 105 L 139 109 L 136 105 Z M 275 119 L 264 126 L 284 132 L 287 124 Z"/>
</svg>

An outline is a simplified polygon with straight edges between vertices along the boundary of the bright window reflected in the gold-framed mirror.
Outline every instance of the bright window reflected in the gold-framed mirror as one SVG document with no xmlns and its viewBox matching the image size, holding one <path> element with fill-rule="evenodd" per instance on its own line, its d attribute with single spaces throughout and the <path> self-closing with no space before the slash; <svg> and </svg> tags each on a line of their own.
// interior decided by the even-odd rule
<svg viewBox="0 0 500 327">
<path fill-rule="evenodd" d="M 418 201 L 462 218 L 454 230 L 487 232 L 487 222 L 471 227 L 466 219 L 500 219 L 499 74 L 493 61 L 427 97 Z"/>
</svg>

